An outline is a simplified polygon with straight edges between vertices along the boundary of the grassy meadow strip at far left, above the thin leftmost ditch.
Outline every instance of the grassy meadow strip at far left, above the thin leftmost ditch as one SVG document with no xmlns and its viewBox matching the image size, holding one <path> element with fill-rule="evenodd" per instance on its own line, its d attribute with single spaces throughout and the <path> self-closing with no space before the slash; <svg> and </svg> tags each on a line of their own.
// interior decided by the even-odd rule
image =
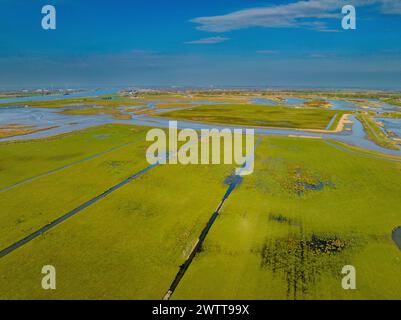
<svg viewBox="0 0 401 320">
<path fill-rule="evenodd" d="M 30 141 L 0 143 L 0 189 L 139 140 L 144 129 L 104 125 Z"/>
</svg>

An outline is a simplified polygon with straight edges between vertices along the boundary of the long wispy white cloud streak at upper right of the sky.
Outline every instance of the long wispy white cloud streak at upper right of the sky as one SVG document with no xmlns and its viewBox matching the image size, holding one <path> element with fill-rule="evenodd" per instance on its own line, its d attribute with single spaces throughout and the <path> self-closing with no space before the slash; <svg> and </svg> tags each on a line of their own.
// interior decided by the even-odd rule
<svg viewBox="0 0 401 320">
<path fill-rule="evenodd" d="M 326 31 L 328 19 L 340 19 L 341 8 L 379 5 L 383 14 L 401 14 L 401 0 L 303 0 L 283 5 L 270 5 L 235 11 L 226 15 L 198 17 L 191 21 L 199 24 L 199 30 L 226 32 L 231 30 L 265 27 L 306 27 Z"/>
</svg>

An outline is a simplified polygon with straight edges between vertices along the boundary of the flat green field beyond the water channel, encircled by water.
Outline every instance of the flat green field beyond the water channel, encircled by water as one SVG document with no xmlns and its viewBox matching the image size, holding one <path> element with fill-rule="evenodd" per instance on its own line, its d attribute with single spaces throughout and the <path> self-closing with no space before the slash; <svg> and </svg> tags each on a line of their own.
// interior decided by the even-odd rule
<svg viewBox="0 0 401 320">
<path fill-rule="evenodd" d="M 161 114 L 161 117 L 219 124 L 324 130 L 337 114 L 333 127 L 345 112 L 313 108 L 262 105 L 202 105 Z"/>
</svg>

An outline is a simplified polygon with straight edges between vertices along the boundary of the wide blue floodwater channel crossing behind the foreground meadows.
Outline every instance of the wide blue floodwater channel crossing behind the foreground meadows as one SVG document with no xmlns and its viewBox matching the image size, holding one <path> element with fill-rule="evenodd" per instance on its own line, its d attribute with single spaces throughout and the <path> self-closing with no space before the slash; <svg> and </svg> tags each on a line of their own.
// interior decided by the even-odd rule
<svg viewBox="0 0 401 320">
<path fill-rule="evenodd" d="M 0 126 L 1 125 L 29 125 L 34 126 L 37 129 L 49 128 L 48 130 L 38 131 L 31 134 L 20 135 L 10 138 L 3 138 L 0 141 L 9 140 L 26 140 L 26 139 L 37 139 L 49 136 L 54 136 L 61 133 L 73 132 L 76 130 L 81 130 L 84 128 L 104 125 L 108 123 L 125 123 L 125 124 L 135 124 L 142 126 L 158 126 L 162 128 L 168 127 L 168 120 L 151 117 L 147 115 L 135 115 L 135 108 L 131 110 L 132 112 L 127 112 L 131 114 L 130 120 L 118 120 L 114 119 L 111 115 L 107 114 L 91 114 L 91 115 L 66 115 L 62 111 L 64 109 L 60 108 L 31 108 L 31 107 L 0 107 Z M 174 109 L 167 109 L 174 110 Z M 165 110 L 163 110 L 165 111 Z M 333 139 L 341 142 L 348 143 L 350 145 L 358 146 L 361 148 L 380 151 L 388 154 L 399 155 L 401 151 L 389 150 L 377 146 L 375 143 L 371 142 L 366 138 L 363 126 L 354 116 L 349 117 L 353 122 L 352 130 L 349 132 L 341 133 L 314 133 L 310 131 L 303 130 L 291 130 L 291 129 L 262 129 L 257 128 L 255 131 L 262 135 L 279 135 L 279 136 L 302 136 L 302 137 L 318 137 Z M 399 120 L 398 119 L 383 119 L 385 124 L 391 126 L 391 130 L 399 132 Z M 191 121 L 180 120 L 180 128 L 192 128 L 199 130 L 202 128 L 224 128 L 227 126 L 223 125 L 210 125 L 195 123 Z M 230 125 L 229 127 L 234 128 L 235 126 Z"/>
</svg>

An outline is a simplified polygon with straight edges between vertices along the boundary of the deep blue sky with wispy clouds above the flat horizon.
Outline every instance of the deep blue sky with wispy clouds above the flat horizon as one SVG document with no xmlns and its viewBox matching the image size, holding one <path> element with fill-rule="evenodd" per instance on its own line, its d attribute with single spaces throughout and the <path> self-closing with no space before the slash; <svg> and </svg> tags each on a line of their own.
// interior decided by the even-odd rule
<svg viewBox="0 0 401 320">
<path fill-rule="evenodd" d="M 41 28 L 42 6 L 57 29 Z M 341 28 L 353 4 L 357 30 Z M 401 0 L 1 0 L 0 88 L 401 89 Z"/>
</svg>

